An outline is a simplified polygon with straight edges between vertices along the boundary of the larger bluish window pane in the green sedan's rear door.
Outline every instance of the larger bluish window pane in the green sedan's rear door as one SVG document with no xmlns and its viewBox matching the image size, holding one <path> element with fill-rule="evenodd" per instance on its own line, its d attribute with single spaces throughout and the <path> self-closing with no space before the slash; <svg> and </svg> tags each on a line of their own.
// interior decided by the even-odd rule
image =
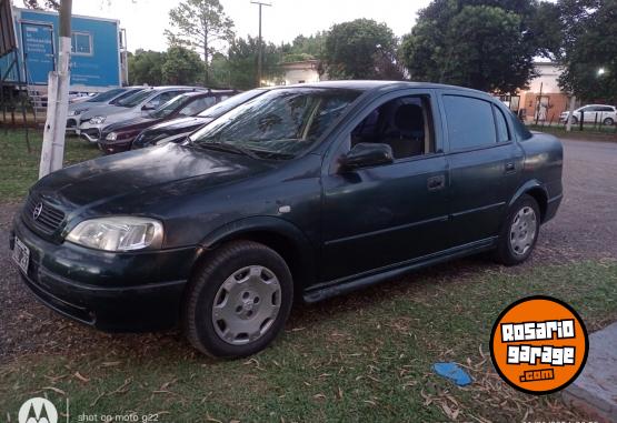
<svg viewBox="0 0 617 423">
<path fill-rule="evenodd" d="M 444 95 L 448 139 L 452 150 L 495 144 L 492 104 L 462 95 Z"/>
</svg>

